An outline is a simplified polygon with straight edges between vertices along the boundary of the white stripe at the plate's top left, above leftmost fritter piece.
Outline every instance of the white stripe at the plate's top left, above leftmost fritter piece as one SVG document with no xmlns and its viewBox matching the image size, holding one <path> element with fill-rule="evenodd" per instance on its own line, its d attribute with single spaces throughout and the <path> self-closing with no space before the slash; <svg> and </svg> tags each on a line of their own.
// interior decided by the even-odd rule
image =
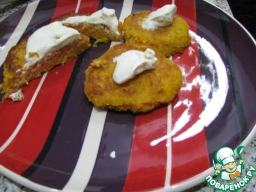
<svg viewBox="0 0 256 192">
<path fill-rule="evenodd" d="M 35 1 L 27 5 L 25 13 L 22 15 L 22 18 L 19 21 L 15 30 L 13 31 L 13 34 L 11 34 L 11 37 L 5 43 L 3 50 L 0 52 L 0 67 L 3 65 L 3 62 L 5 61 L 5 58 L 11 47 L 18 43 L 22 34 L 25 32 L 27 26 L 29 25 L 29 22 L 31 21 L 31 18 L 35 13 L 35 9 L 37 9 L 38 3 L 39 1 Z"/>
</svg>

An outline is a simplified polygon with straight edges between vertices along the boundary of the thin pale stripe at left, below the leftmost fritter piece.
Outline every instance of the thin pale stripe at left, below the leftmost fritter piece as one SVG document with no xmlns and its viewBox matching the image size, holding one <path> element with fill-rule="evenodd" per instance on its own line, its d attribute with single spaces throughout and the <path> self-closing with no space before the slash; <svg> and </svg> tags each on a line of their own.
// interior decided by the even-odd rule
<svg viewBox="0 0 256 192">
<path fill-rule="evenodd" d="M 3 143 L 3 145 L 0 147 L 0 153 L 2 153 L 3 150 L 6 149 L 7 146 L 9 146 L 9 144 L 13 141 L 13 139 L 16 137 L 16 135 L 19 133 L 19 130 L 21 129 L 23 123 L 25 122 L 27 115 L 29 114 L 29 111 L 31 109 L 31 107 L 34 104 L 35 98 L 37 98 L 38 92 L 41 89 L 43 82 L 45 81 L 46 78 L 46 74 L 43 74 L 43 77 L 41 79 L 41 81 L 39 82 L 39 85 L 37 87 L 37 89 L 35 90 L 35 93 L 31 99 L 31 101 L 29 102 L 29 105 L 27 106 L 27 109 L 25 111 L 25 113 L 23 114 L 21 121 L 19 121 L 18 126 L 15 128 L 15 130 L 13 131 L 13 134 L 11 134 L 11 136 L 7 139 L 7 141 L 5 143 Z"/>
</svg>

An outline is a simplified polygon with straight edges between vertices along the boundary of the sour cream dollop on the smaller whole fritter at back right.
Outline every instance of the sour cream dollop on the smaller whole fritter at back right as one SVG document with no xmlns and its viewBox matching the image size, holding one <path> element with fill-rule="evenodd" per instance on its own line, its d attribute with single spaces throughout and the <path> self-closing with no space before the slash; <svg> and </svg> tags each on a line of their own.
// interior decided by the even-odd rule
<svg viewBox="0 0 256 192">
<path fill-rule="evenodd" d="M 152 30 L 171 25 L 176 11 L 177 7 L 171 4 L 165 5 L 160 9 L 151 12 L 149 17 L 147 17 L 142 23 L 143 29 Z"/>
</svg>

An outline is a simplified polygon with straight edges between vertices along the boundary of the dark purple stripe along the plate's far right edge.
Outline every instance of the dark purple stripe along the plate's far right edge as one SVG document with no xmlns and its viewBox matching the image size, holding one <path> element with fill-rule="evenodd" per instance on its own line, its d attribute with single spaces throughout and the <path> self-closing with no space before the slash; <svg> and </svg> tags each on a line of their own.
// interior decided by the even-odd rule
<svg viewBox="0 0 256 192">
<path fill-rule="evenodd" d="M 256 124 L 256 45 L 252 37 L 230 18 L 220 12 L 222 22 L 225 22 L 227 36 L 224 38 L 229 43 L 230 72 L 233 77 L 235 104 L 238 106 L 238 114 L 243 115 L 240 126 L 243 127 L 245 138 Z M 229 22 L 226 22 L 229 21 Z M 239 38 L 238 38 L 239 34 Z M 243 113 L 243 114 L 241 114 Z"/>
</svg>

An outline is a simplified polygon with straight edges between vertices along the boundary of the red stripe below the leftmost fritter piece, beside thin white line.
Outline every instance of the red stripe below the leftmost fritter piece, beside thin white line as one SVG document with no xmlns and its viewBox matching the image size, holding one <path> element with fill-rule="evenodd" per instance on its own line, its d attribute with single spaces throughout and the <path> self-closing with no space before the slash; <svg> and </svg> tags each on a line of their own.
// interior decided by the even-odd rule
<svg viewBox="0 0 256 192">
<path fill-rule="evenodd" d="M 97 5 L 98 0 L 94 2 Z M 77 3 L 76 0 L 59 0 L 53 19 L 61 14 L 74 12 Z M 94 6 L 90 6 L 88 11 L 92 11 L 92 7 Z M 47 74 L 21 130 L 6 150 L 0 154 L 0 162 L 7 169 L 21 174 L 38 157 L 53 125 L 75 61 L 76 58 L 64 66 L 55 67 Z M 34 94 L 40 81 L 41 78 L 35 79 L 24 87 L 26 97 L 27 94 Z M 35 84 L 34 89 L 31 89 L 33 84 Z"/>
</svg>

